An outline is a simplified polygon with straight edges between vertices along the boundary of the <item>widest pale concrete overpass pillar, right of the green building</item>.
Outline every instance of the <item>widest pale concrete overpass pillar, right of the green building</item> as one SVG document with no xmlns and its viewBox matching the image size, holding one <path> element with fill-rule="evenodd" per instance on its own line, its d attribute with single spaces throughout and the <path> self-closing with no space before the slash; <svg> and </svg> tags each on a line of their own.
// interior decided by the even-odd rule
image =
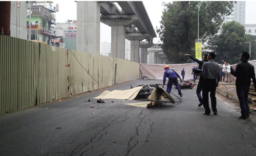
<svg viewBox="0 0 256 156">
<path fill-rule="evenodd" d="M 100 55 L 100 3 L 77 1 L 77 50 Z"/>
</svg>

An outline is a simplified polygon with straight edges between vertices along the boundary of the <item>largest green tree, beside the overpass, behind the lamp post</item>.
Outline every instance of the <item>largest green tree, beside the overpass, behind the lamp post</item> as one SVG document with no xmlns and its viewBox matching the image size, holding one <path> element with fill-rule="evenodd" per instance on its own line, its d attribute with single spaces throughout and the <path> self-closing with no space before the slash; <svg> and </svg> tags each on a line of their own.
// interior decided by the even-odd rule
<svg viewBox="0 0 256 156">
<path fill-rule="evenodd" d="M 198 3 L 179 1 L 163 3 L 160 28 L 157 29 L 163 42 L 163 52 L 171 63 L 190 62 L 183 54 L 195 54 L 195 40 L 198 32 Z M 199 11 L 199 34 L 204 39 L 216 34 L 219 30 L 223 15 L 230 15 L 232 2 L 202 3 Z"/>
</svg>

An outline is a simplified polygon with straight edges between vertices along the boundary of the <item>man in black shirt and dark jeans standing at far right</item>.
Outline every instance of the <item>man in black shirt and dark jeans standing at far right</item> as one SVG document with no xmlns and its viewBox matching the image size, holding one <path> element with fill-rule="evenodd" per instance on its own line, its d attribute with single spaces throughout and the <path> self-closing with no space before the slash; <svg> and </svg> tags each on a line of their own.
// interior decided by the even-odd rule
<svg viewBox="0 0 256 156">
<path fill-rule="evenodd" d="M 256 91 L 256 80 L 254 66 L 251 65 L 249 60 L 250 54 L 243 52 L 240 56 L 241 63 L 237 64 L 236 70 L 231 73 L 237 77 L 236 87 L 239 104 L 241 107 L 241 116 L 239 118 L 246 119 L 249 117 L 249 105 L 248 105 L 248 94 L 250 90 L 251 79 L 254 84 L 254 90 Z"/>
</svg>

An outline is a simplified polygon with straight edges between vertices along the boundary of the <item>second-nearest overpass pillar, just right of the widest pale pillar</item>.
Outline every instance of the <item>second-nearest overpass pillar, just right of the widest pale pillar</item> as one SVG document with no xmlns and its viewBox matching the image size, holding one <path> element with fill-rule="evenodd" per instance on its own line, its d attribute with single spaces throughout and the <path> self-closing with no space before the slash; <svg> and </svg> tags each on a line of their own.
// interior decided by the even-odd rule
<svg viewBox="0 0 256 156">
<path fill-rule="evenodd" d="M 111 57 L 125 59 L 125 27 L 124 25 L 111 26 Z"/>
</svg>

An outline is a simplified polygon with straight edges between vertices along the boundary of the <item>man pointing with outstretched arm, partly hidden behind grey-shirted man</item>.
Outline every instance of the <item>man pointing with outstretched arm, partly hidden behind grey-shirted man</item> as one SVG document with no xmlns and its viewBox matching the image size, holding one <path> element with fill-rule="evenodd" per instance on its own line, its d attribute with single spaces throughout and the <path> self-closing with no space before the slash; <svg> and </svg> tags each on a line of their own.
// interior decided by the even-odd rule
<svg viewBox="0 0 256 156">
<path fill-rule="evenodd" d="M 199 64 L 198 69 L 200 69 L 200 70 L 202 70 L 202 65 L 205 62 L 207 62 L 207 55 L 206 54 L 204 55 L 202 61 L 194 58 L 193 56 L 190 56 L 189 54 L 184 54 L 184 56 L 188 56 L 191 60 L 196 61 Z M 204 82 L 204 78 L 203 78 L 203 76 L 200 76 L 199 82 L 198 82 L 198 85 L 197 85 L 197 97 L 198 97 L 199 102 L 200 102 L 198 107 L 201 107 L 203 105 L 203 98 L 201 96 L 201 91 L 203 90 L 203 82 Z"/>
</svg>

